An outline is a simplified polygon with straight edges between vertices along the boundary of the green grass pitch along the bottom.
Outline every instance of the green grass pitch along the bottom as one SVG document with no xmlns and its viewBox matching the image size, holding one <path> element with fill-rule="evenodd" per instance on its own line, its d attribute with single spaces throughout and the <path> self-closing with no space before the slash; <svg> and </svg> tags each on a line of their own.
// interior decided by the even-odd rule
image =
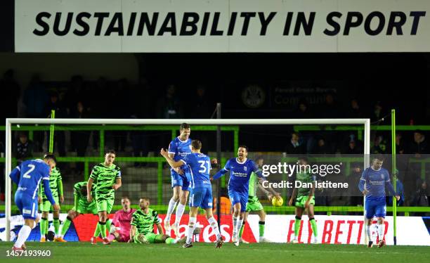
<svg viewBox="0 0 430 263">
<path fill-rule="evenodd" d="M 195 243 L 193 248 L 180 245 L 139 245 L 112 243 L 36 243 L 27 242 L 27 250 L 51 250 L 48 261 L 60 262 L 159 262 L 159 263 L 223 263 L 223 262 L 429 262 L 430 246 L 385 246 L 366 248 L 364 245 L 304 245 L 304 244 L 241 244 L 225 243 L 217 250 L 211 243 Z M 0 259 L 12 243 L 0 242 Z M 46 262 L 46 258 L 22 258 L 26 262 Z M 15 260 L 15 259 L 13 259 Z M 22 260 L 20 260 L 22 261 Z"/>
</svg>

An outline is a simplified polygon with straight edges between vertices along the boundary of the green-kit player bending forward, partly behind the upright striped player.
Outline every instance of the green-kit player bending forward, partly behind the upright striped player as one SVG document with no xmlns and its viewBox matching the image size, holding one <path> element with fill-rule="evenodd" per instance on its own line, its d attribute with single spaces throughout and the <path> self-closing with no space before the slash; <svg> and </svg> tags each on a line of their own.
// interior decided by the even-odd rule
<svg viewBox="0 0 430 263">
<path fill-rule="evenodd" d="M 78 217 L 79 214 L 97 214 L 96 200 L 93 200 L 91 203 L 88 203 L 88 200 L 86 200 L 86 184 L 86 181 L 80 181 L 73 186 L 74 206 L 72 210 L 67 212 L 67 219 L 63 223 L 60 238 L 64 238 L 70 223 L 72 223 L 72 220 Z M 96 195 L 94 189 L 95 187 L 93 186 L 91 189 L 91 195 L 93 196 Z M 64 242 L 66 241 L 64 240 Z"/>
</svg>

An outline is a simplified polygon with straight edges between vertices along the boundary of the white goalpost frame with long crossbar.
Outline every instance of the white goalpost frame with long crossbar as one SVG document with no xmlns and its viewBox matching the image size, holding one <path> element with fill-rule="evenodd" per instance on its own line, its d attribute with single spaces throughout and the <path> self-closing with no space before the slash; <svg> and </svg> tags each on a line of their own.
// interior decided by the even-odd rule
<svg viewBox="0 0 430 263">
<path fill-rule="evenodd" d="M 12 170 L 12 126 L 14 124 L 123 124 L 123 125 L 180 125 L 188 124 L 200 125 L 292 125 L 292 124 L 320 124 L 320 125 L 364 125 L 364 156 L 365 167 L 369 166 L 370 154 L 370 119 L 30 119 L 12 118 L 6 119 L 6 172 L 5 172 L 5 221 L 6 240 L 11 240 L 11 179 L 9 174 Z M 366 158 L 367 157 L 367 158 Z"/>
</svg>

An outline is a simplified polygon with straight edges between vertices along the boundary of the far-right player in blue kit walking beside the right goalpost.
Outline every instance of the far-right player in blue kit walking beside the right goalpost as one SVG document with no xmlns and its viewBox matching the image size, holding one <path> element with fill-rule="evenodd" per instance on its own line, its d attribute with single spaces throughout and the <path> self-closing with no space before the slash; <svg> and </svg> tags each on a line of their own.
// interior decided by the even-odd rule
<svg viewBox="0 0 430 263">
<path fill-rule="evenodd" d="M 377 217 L 378 223 L 378 248 L 385 245 L 384 240 L 384 219 L 386 214 L 386 201 L 385 201 L 385 186 L 389 189 L 391 195 L 395 195 L 399 200 L 400 196 L 396 194 L 390 182 L 389 172 L 382 168 L 384 157 L 378 155 L 373 158 L 372 165 L 363 171 L 358 188 L 361 193 L 365 195 L 365 224 L 366 235 L 369 243 L 368 248 L 372 248 L 373 241 L 370 236 L 370 226 L 372 226 L 373 217 Z"/>
</svg>

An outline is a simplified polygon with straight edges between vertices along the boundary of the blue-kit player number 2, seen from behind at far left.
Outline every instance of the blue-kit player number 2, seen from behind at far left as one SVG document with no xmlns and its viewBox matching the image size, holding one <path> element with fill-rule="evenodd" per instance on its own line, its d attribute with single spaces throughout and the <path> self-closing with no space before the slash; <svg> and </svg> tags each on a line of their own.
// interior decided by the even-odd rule
<svg viewBox="0 0 430 263">
<path fill-rule="evenodd" d="M 9 177 L 18 189 L 15 193 L 15 204 L 24 217 L 24 225 L 18 233 L 18 239 L 12 247 L 12 250 L 25 250 L 25 240 L 30 236 L 30 232 L 39 222 L 37 214 L 37 190 L 40 181 L 44 184 L 44 193 L 46 198 L 52 204 L 53 211 L 58 212 L 60 206 L 53 199 L 51 188 L 49 188 L 49 174 L 51 169 L 56 167 L 56 158 L 53 155 L 45 155 L 44 160 L 27 160 L 20 166 L 15 167 Z"/>
</svg>

